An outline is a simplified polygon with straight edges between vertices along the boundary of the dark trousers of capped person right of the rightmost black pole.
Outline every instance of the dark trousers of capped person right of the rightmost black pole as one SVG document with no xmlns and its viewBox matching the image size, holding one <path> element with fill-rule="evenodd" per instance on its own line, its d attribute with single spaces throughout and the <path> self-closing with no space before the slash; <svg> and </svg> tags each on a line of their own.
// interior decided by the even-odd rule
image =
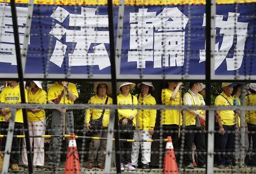
<svg viewBox="0 0 256 174">
<path fill-rule="evenodd" d="M 236 160 L 234 159 L 235 152 L 235 131 L 236 125 L 227 126 L 223 125 L 225 134 L 217 134 L 217 146 L 218 152 L 218 165 L 235 165 Z M 230 132 L 231 131 L 231 132 Z M 224 152 L 231 152 L 232 154 L 224 155 Z"/>
</svg>

